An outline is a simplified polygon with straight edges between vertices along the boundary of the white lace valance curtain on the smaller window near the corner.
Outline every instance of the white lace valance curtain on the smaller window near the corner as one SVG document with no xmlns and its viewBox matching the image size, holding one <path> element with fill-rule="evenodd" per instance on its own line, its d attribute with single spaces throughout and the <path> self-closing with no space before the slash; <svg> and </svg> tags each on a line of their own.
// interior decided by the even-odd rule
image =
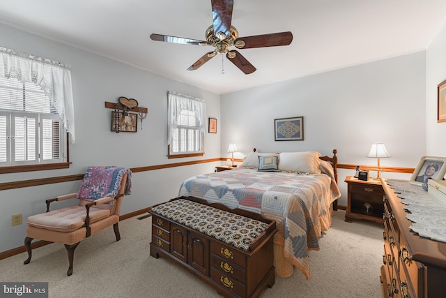
<svg viewBox="0 0 446 298">
<path fill-rule="evenodd" d="M 178 116 L 182 110 L 189 110 L 195 112 L 200 132 L 206 136 L 206 103 L 200 98 L 179 94 L 169 91 L 169 115 L 167 121 L 169 122 L 169 135 L 167 144 L 171 144 L 172 137 L 178 128 Z"/>
</svg>

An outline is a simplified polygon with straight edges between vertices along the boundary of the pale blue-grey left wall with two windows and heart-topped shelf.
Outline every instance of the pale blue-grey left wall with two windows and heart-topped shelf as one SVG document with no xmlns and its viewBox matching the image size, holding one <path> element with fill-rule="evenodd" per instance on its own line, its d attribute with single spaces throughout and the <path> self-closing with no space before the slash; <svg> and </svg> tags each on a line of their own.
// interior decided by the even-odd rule
<svg viewBox="0 0 446 298">
<path fill-rule="evenodd" d="M 203 98 L 208 115 L 217 119 L 220 119 L 220 95 L 3 24 L 0 24 L 0 36 L 1 47 L 71 65 L 76 131 L 76 142 L 70 145 L 69 169 L 1 174 L 0 182 L 82 174 L 89 165 L 143 167 L 202 159 L 167 158 L 167 91 Z M 148 108 L 143 128 L 139 123 L 137 133 L 111 131 L 112 110 L 105 108 L 105 101 L 117 103 L 119 96 L 135 98 L 141 107 Z M 217 134 L 206 134 L 203 158 L 220 157 L 218 125 Z M 134 173 L 132 195 L 125 198 L 121 214 L 176 197 L 181 181 L 194 174 L 213 172 L 215 164 L 220 163 Z M 26 218 L 44 212 L 45 199 L 75 192 L 79 185 L 80 181 L 74 181 L 0 191 L 0 252 L 23 246 Z M 11 215 L 20 213 L 24 223 L 11 226 Z"/>
</svg>

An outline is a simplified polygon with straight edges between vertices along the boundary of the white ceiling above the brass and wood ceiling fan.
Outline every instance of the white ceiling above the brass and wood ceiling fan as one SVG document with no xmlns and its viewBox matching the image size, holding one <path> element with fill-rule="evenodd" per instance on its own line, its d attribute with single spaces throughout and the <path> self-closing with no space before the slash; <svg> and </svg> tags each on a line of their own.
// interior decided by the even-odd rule
<svg viewBox="0 0 446 298">
<path fill-rule="evenodd" d="M 213 48 L 149 38 L 205 40 L 210 0 L 2 0 L 0 22 L 224 94 L 426 50 L 445 12 L 445 0 L 234 0 L 241 37 L 293 33 L 288 46 L 239 50 L 257 68 L 251 75 L 226 58 L 223 75 L 222 55 L 188 71 Z"/>
</svg>

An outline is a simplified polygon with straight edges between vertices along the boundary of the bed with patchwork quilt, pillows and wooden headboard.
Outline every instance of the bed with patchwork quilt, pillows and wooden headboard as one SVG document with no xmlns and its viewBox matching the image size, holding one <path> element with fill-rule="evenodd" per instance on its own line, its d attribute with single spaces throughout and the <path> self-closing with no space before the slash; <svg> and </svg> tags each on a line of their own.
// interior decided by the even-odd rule
<svg viewBox="0 0 446 298">
<path fill-rule="evenodd" d="M 258 153 L 254 149 L 233 170 L 190 177 L 179 195 L 219 202 L 275 220 L 276 275 L 288 277 L 298 268 L 310 276 L 308 251 L 332 223 L 337 187 L 337 150 L 333 156 L 315 151 Z"/>
</svg>

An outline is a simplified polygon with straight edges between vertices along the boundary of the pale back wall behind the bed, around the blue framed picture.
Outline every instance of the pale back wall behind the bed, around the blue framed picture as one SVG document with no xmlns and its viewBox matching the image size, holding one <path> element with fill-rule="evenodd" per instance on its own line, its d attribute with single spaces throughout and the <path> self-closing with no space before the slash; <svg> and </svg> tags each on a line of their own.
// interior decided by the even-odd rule
<svg viewBox="0 0 446 298">
<path fill-rule="evenodd" d="M 415 167 L 426 152 L 425 59 L 417 52 L 224 94 L 222 152 L 231 142 L 240 150 L 238 157 L 252 147 L 323 155 L 337 149 L 339 163 L 376 165 L 365 156 L 372 142 L 384 142 L 392 157 L 382 158 L 381 165 Z M 274 119 L 298 116 L 304 117 L 305 140 L 275 142 Z M 339 204 L 347 204 L 344 179 L 351 174 L 339 170 Z"/>
</svg>

